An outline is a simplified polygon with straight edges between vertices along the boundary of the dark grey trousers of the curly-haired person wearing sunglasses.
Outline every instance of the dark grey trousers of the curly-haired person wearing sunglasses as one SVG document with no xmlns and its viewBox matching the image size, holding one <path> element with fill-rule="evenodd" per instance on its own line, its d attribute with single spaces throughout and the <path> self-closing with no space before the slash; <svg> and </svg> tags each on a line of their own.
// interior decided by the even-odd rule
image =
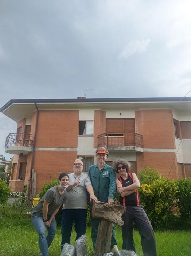
<svg viewBox="0 0 191 256">
<path fill-rule="evenodd" d="M 144 256 L 156 256 L 154 231 L 143 206 L 126 206 L 126 212 L 122 215 L 122 220 L 125 223 L 124 226 L 122 226 L 122 248 L 135 251 L 133 240 L 133 222 L 135 222 L 139 234 L 141 235 L 141 245 Z"/>
</svg>

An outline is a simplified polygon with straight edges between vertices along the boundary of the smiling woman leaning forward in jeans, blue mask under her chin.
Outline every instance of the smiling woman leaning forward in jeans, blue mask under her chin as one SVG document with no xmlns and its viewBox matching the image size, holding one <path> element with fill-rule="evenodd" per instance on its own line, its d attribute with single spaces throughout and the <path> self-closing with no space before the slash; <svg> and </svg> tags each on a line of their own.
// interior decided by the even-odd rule
<svg viewBox="0 0 191 256">
<path fill-rule="evenodd" d="M 63 203 L 66 203 L 69 176 L 61 173 L 59 185 L 46 192 L 39 203 L 32 209 L 32 223 L 39 236 L 39 255 L 48 256 L 48 247 L 51 245 L 56 233 L 55 215 Z M 48 235 L 46 236 L 46 228 Z"/>
</svg>

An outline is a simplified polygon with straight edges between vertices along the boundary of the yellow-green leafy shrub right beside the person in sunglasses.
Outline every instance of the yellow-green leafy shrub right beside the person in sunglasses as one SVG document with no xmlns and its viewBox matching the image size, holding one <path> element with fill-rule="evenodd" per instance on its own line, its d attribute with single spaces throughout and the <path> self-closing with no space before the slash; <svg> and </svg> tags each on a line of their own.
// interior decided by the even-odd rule
<svg viewBox="0 0 191 256">
<path fill-rule="evenodd" d="M 173 227 L 172 223 L 175 221 L 175 215 L 172 210 L 176 193 L 176 182 L 163 177 L 153 181 L 152 184 L 142 184 L 140 186 L 141 204 L 153 227 L 157 229 Z"/>
</svg>

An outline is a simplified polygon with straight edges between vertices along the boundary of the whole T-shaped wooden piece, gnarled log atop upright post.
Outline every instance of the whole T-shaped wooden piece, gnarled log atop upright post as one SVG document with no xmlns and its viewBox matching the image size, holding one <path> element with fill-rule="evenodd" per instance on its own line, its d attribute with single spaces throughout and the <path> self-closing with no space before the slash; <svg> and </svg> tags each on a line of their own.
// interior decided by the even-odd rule
<svg viewBox="0 0 191 256">
<path fill-rule="evenodd" d="M 95 243 L 94 256 L 110 252 L 113 223 L 123 226 L 124 222 L 121 215 L 125 211 L 125 206 L 119 202 L 111 204 L 94 201 L 92 207 L 92 216 L 100 218 L 97 239 Z"/>
</svg>

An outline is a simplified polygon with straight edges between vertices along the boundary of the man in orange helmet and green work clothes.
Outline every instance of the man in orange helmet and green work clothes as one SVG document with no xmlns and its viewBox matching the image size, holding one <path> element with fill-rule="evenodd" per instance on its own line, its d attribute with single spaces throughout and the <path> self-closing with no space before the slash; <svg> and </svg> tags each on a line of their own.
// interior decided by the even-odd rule
<svg viewBox="0 0 191 256">
<path fill-rule="evenodd" d="M 114 202 L 116 196 L 116 176 L 114 169 L 106 164 L 108 150 L 105 147 L 98 147 L 96 150 L 97 164 L 91 165 L 89 169 L 89 177 L 97 199 L 104 203 Z M 91 217 L 91 239 L 95 249 L 97 231 L 100 220 Z M 112 230 L 111 249 L 113 245 L 117 245 L 115 229 Z"/>
</svg>

